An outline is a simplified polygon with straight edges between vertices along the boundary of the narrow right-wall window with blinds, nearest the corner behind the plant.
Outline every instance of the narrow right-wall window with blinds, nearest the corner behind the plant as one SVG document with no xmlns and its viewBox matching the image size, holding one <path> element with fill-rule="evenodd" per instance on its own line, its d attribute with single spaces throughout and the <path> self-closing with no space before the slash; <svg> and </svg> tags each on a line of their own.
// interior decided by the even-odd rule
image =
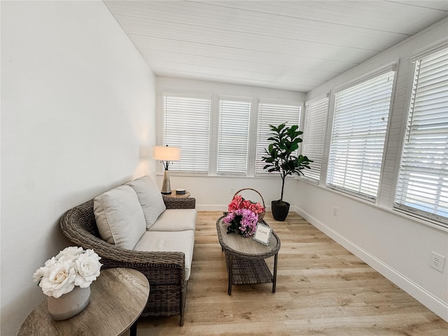
<svg viewBox="0 0 448 336">
<path fill-rule="evenodd" d="M 302 155 L 311 162 L 311 169 L 304 169 L 304 179 L 319 183 L 321 179 L 322 157 L 327 127 L 328 97 L 305 103 L 305 127 Z"/>
</svg>

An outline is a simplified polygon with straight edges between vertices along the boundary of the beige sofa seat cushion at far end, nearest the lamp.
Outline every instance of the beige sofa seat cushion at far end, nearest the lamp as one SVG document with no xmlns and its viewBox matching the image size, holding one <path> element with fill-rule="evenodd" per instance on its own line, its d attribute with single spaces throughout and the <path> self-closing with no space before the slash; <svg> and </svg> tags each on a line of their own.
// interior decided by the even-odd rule
<svg viewBox="0 0 448 336">
<path fill-rule="evenodd" d="M 196 228 L 196 209 L 167 209 L 149 231 L 185 231 Z"/>
</svg>

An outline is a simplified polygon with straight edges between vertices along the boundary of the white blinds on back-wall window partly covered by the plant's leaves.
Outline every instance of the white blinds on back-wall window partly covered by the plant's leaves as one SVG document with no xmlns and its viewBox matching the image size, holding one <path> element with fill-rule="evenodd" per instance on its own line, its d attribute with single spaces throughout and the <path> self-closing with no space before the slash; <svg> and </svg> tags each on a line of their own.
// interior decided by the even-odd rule
<svg viewBox="0 0 448 336">
<path fill-rule="evenodd" d="M 260 101 L 258 104 L 258 131 L 257 131 L 257 146 L 255 153 L 255 176 L 260 174 L 267 174 L 263 169 L 266 162 L 261 160 L 265 155 L 265 148 L 269 146 L 267 138 L 272 132 L 269 125 L 278 126 L 282 123 L 287 123 L 286 126 L 300 125 L 300 112 L 302 111 L 302 104 L 274 104 L 270 102 Z"/>
</svg>

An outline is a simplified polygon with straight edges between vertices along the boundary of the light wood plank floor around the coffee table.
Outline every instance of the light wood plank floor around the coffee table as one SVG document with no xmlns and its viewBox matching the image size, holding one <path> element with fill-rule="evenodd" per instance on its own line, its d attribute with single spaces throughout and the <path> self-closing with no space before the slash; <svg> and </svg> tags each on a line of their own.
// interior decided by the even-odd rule
<svg viewBox="0 0 448 336">
<path fill-rule="evenodd" d="M 218 211 L 200 211 L 185 325 L 144 318 L 139 336 L 446 336 L 448 323 L 297 214 L 265 220 L 281 239 L 272 283 L 233 286 L 216 235 Z M 272 258 L 267 260 L 272 267 Z"/>
</svg>

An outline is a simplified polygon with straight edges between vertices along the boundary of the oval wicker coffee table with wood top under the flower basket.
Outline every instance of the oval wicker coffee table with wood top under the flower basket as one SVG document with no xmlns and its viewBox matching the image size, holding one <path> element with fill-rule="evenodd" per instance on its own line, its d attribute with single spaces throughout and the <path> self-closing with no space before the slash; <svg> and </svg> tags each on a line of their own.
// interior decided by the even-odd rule
<svg viewBox="0 0 448 336">
<path fill-rule="evenodd" d="M 274 231 L 265 246 L 237 233 L 227 233 L 228 224 L 223 224 L 222 216 L 216 221 L 219 244 L 223 248 L 225 263 L 229 276 L 228 294 L 232 295 L 232 285 L 248 285 L 272 282 L 272 293 L 275 293 L 277 276 L 277 257 L 280 250 L 280 239 Z M 261 223 L 267 225 L 265 221 Z M 274 255 L 273 273 L 267 267 L 266 258 Z"/>
</svg>

